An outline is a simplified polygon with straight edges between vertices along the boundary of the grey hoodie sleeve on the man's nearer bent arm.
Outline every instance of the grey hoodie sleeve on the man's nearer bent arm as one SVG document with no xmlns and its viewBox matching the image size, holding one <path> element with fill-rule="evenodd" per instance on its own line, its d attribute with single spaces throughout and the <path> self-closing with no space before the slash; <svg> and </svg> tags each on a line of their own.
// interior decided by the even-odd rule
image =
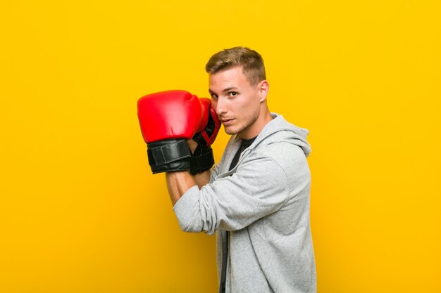
<svg viewBox="0 0 441 293">
<path fill-rule="evenodd" d="M 249 157 L 232 176 L 182 195 L 173 207 L 182 230 L 209 235 L 217 228 L 240 230 L 282 207 L 289 195 L 285 171 L 266 155 Z"/>
</svg>

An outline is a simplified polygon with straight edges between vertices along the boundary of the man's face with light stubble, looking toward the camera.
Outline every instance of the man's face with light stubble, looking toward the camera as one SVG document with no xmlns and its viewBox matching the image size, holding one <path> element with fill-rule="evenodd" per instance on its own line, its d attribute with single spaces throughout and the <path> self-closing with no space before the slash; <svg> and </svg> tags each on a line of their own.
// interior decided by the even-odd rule
<svg viewBox="0 0 441 293">
<path fill-rule="evenodd" d="M 211 105 L 227 134 L 253 138 L 254 122 L 260 115 L 260 84 L 252 86 L 242 72 L 242 67 L 232 67 L 209 74 Z"/>
</svg>

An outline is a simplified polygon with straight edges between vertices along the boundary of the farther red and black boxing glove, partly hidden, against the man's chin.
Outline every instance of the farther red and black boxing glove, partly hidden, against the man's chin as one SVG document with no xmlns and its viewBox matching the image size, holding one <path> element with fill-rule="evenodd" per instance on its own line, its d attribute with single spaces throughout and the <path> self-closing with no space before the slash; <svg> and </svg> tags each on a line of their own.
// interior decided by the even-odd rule
<svg viewBox="0 0 441 293">
<path fill-rule="evenodd" d="M 193 140 L 198 144 L 190 164 L 190 173 L 193 175 L 213 167 L 214 156 L 211 144 L 213 144 L 219 129 L 221 129 L 221 121 L 213 107 L 211 107 L 211 100 L 209 98 L 201 98 L 200 100 L 204 114 L 197 134 L 193 136 Z"/>
</svg>

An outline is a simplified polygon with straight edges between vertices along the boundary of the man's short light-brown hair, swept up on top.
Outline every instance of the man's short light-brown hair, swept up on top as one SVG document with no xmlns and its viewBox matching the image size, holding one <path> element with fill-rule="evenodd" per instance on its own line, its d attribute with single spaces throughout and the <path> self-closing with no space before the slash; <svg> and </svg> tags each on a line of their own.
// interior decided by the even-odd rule
<svg viewBox="0 0 441 293">
<path fill-rule="evenodd" d="M 211 56 L 205 65 L 209 74 L 228 70 L 232 67 L 242 67 L 242 72 L 251 85 L 256 85 L 266 79 L 265 65 L 262 56 L 247 47 L 234 47 L 224 49 Z"/>
</svg>

